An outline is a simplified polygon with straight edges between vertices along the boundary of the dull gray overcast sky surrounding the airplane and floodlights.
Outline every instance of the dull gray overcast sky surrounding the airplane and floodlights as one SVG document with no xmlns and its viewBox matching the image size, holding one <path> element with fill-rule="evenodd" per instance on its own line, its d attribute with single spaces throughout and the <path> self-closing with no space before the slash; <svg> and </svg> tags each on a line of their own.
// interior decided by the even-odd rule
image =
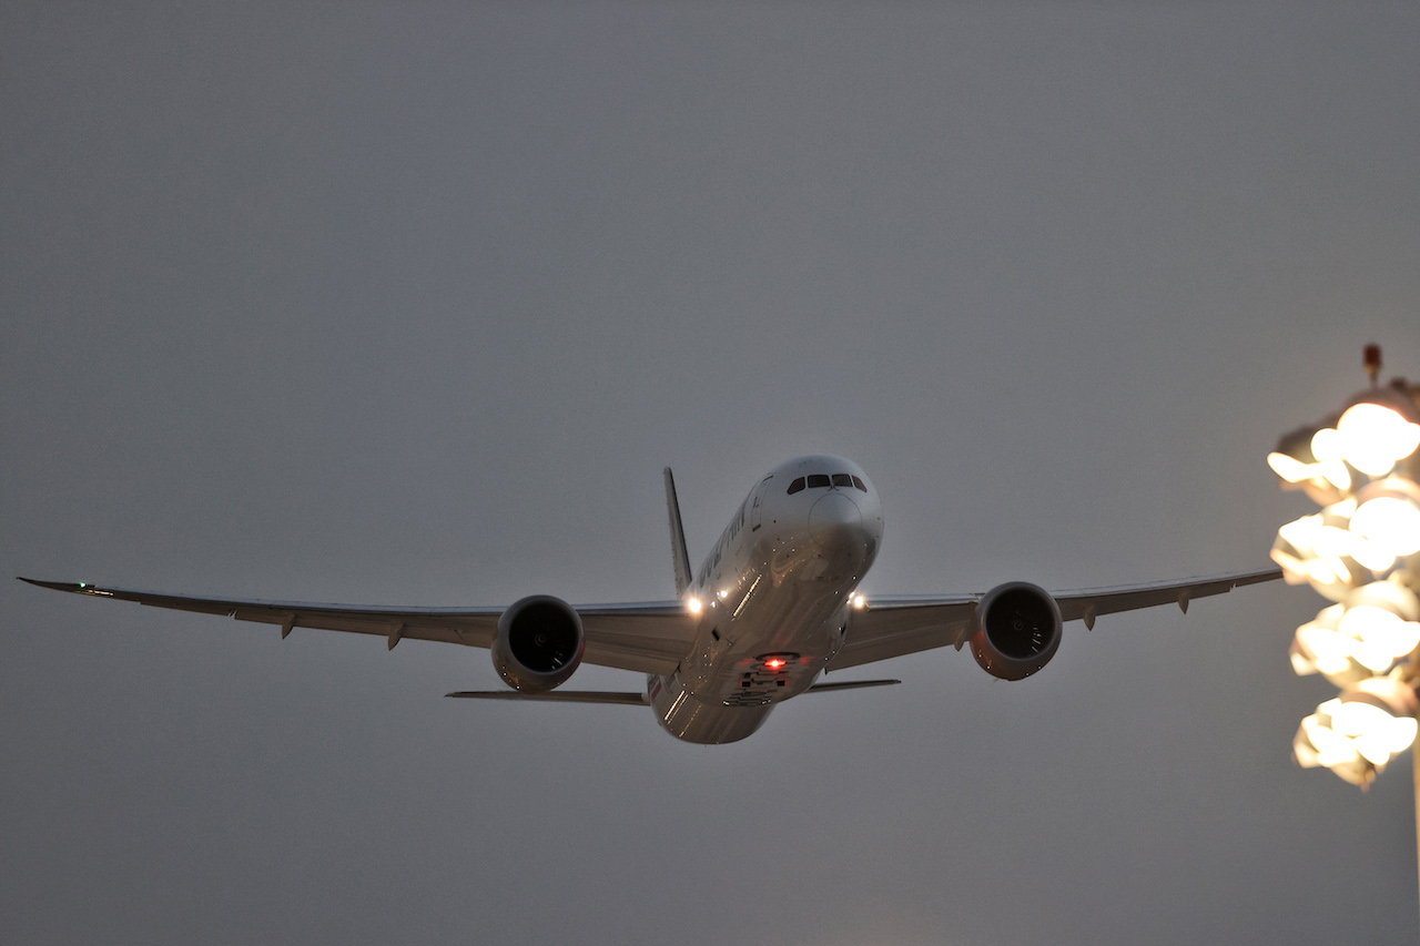
<svg viewBox="0 0 1420 946">
<path fill-rule="evenodd" d="M 660 467 L 699 561 L 811 450 L 869 592 L 1254 568 L 1278 433 L 1420 376 L 1413 4 L 236 6 L 0 6 L 7 575 L 665 598 Z M 1409 757 L 1289 761 L 1322 604 L 707 749 L 6 580 L 0 939 L 1413 940 Z"/>
</svg>

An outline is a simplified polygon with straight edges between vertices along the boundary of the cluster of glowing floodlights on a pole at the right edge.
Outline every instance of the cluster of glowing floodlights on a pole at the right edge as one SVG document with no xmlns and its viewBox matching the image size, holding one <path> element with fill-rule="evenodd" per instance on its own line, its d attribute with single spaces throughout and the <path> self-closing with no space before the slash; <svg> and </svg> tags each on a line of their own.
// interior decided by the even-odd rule
<svg viewBox="0 0 1420 946">
<path fill-rule="evenodd" d="M 1268 466 L 1322 509 L 1282 526 L 1272 560 L 1332 601 L 1292 639 L 1292 669 L 1340 693 L 1302 720 L 1292 756 L 1366 788 L 1416 740 L 1420 686 L 1420 386 L 1370 388 L 1321 423 L 1282 436 Z M 1411 753 L 1420 858 L 1420 750 Z"/>
</svg>

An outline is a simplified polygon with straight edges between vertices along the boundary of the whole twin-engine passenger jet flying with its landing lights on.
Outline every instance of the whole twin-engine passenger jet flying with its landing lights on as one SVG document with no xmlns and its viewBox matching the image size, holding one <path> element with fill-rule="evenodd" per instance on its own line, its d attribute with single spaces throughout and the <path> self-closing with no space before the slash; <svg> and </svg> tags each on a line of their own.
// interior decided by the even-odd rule
<svg viewBox="0 0 1420 946">
<path fill-rule="evenodd" d="M 280 625 L 283 639 L 294 628 L 318 628 L 379 635 L 389 649 L 405 639 L 487 648 L 510 689 L 447 696 L 649 706 L 676 739 L 723 744 L 751 736 L 770 710 L 802 693 L 899 683 L 818 682 L 828 670 L 970 643 L 987 673 L 1020 680 L 1055 656 L 1066 621 L 1093 629 L 1100 615 L 1137 608 L 1177 604 L 1187 612 L 1196 598 L 1282 574 L 1271 568 L 1065 592 L 1008 581 L 985 594 L 869 601 L 859 585 L 878 555 L 883 513 L 878 490 L 855 463 L 814 455 L 770 470 L 694 572 L 670 467 L 663 477 L 674 601 L 572 607 L 551 595 L 531 595 L 507 608 L 389 608 L 20 580 L 95 598 Z M 645 673 L 645 689 L 558 689 L 584 662 Z"/>
</svg>

